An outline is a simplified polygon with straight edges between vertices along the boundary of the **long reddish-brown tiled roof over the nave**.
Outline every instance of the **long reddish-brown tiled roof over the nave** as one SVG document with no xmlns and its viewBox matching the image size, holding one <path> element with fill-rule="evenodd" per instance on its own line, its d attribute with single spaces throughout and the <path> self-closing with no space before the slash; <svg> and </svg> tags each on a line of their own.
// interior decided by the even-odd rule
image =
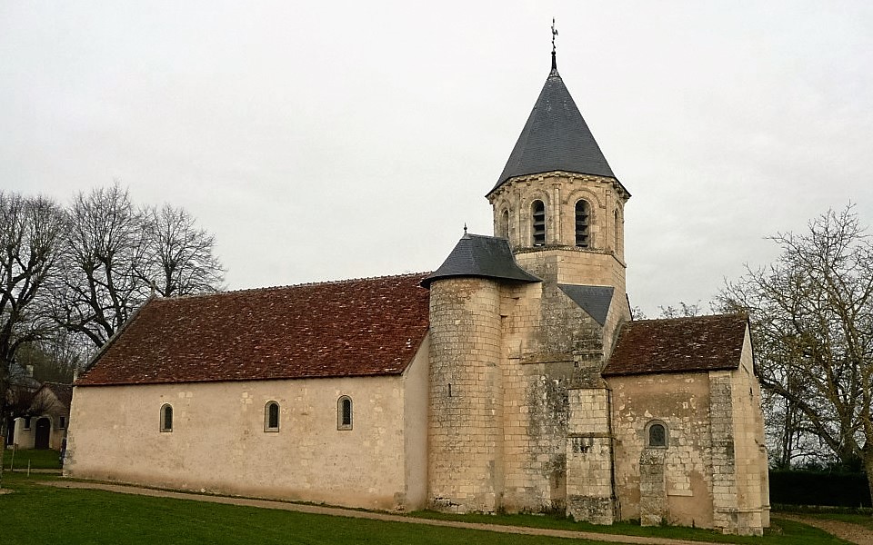
<svg viewBox="0 0 873 545">
<path fill-rule="evenodd" d="M 153 299 L 75 385 L 399 374 L 427 332 L 425 276 Z"/>
</svg>

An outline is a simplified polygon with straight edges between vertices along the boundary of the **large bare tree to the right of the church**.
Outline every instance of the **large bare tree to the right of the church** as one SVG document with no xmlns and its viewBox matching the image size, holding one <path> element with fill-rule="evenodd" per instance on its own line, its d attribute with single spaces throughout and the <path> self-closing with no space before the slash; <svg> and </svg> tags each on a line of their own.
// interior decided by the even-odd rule
<svg viewBox="0 0 873 545">
<path fill-rule="evenodd" d="M 775 454 L 863 461 L 873 487 L 873 243 L 851 205 L 772 240 L 777 262 L 747 267 L 719 300 L 753 322 Z"/>
</svg>

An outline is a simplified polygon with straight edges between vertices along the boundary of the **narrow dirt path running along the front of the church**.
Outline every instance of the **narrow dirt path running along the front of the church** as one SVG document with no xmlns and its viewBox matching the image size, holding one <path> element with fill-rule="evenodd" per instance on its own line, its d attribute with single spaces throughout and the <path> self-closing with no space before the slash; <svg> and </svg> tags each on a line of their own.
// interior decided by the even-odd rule
<svg viewBox="0 0 873 545">
<path fill-rule="evenodd" d="M 408 524 L 429 524 L 431 526 L 447 526 L 451 528 L 465 528 L 467 530 L 486 530 L 500 533 L 517 533 L 536 536 L 550 536 L 554 538 L 568 538 L 573 540 L 607 541 L 610 543 L 638 543 L 648 545 L 707 545 L 706 541 L 667 540 L 664 538 L 644 538 L 638 536 L 624 536 L 602 534 L 590 531 L 571 530 L 547 530 L 543 528 L 527 528 L 524 526 L 501 526 L 498 524 L 477 524 L 472 522 L 459 522 L 456 520 L 431 520 L 416 519 L 403 515 L 392 515 L 372 511 L 349 510 L 336 507 L 322 507 L 317 505 L 303 505 L 288 503 L 286 501 L 250 500 L 247 498 L 231 498 L 227 496 L 206 496 L 201 494 L 188 494 L 185 492 L 173 492 L 169 490 L 155 490 L 125 486 L 120 484 L 101 484 L 97 482 L 79 481 L 50 481 L 46 485 L 59 488 L 82 488 L 95 490 L 108 490 L 124 494 L 139 494 L 142 496 L 154 496 L 158 498 L 176 498 L 179 500 L 209 501 L 212 503 L 226 503 L 231 505 L 246 505 L 266 509 L 292 510 L 319 515 L 331 515 L 335 517 L 351 517 L 357 519 L 388 520 L 392 522 L 406 522 Z"/>
</svg>

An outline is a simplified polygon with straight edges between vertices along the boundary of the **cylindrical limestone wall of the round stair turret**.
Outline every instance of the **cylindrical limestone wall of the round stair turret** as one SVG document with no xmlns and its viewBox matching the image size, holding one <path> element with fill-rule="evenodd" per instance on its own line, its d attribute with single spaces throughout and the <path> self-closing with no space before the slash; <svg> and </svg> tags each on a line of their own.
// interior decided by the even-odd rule
<svg viewBox="0 0 873 545">
<path fill-rule="evenodd" d="M 500 286 L 448 278 L 430 286 L 428 502 L 493 512 L 504 491 Z"/>
</svg>

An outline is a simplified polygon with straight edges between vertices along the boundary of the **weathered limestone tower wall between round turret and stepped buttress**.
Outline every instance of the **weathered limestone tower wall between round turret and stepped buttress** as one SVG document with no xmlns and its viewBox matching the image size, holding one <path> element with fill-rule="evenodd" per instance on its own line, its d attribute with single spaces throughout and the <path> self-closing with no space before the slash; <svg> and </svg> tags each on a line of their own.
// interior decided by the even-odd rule
<svg viewBox="0 0 873 545">
<path fill-rule="evenodd" d="M 557 288 L 547 264 L 531 263 L 528 270 L 545 282 L 503 286 L 504 508 L 565 510 L 574 351 L 581 340 L 597 338 L 599 326 Z"/>
</svg>

